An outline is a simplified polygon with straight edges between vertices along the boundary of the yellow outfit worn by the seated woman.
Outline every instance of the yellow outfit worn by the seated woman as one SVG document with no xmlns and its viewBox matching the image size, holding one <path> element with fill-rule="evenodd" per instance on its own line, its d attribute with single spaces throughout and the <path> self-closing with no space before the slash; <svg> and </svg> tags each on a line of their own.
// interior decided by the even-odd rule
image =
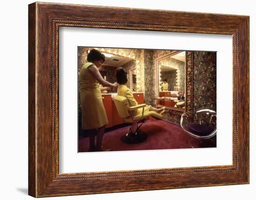
<svg viewBox="0 0 256 200">
<path fill-rule="evenodd" d="M 117 88 L 117 95 L 118 96 L 123 96 L 126 97 L 128 99 L 129 105 L 130 106 L 136 106 L 138 105 L 138 102 L 135 100 L 135 98 L 133 97 L 133 93 L 131 92 L 131 90 L 126 86 L 126 85 L 121 85 L 119 84 L 118 88 Z M 142 114 L 142 110 L 143 108 L 139 108 L 135 111 L 134 115 L 141 115 Z M 149 106 L 146 105 L 146 107 L 144 108 L 144 113 L 149 111 Z"/>
</svg>

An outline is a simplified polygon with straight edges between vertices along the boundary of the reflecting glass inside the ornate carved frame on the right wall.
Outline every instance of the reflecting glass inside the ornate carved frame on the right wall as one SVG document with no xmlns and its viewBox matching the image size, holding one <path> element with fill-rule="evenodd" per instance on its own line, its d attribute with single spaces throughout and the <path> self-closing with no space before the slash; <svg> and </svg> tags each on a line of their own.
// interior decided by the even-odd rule
<svg viewBox="0 0 256 200">
<path fill-rule="evenodd" d="M 159 107 L 185 110 L 186 52 L 171 53 L 157 60 Z"/>
</svg>

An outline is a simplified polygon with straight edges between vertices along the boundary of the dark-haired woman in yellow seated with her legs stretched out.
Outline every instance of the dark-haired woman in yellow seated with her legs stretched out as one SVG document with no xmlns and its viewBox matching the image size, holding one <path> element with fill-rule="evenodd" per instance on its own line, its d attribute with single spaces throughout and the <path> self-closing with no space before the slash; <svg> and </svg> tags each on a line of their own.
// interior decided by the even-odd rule
<svg viewBox="0 0 256 200">
<path fill-rule="evenodd" d="M 122 67 L 118 67 L 115 71 L 115 77 L 116 77 L 116 82 L 119 84 L 117 89 L 117 95 L 126 97 L 128 99 L 130 106 L 138 105 L 137 101 L 133 97 L 131 90 L 126 86 L 128 79 L 127 79 L 127 72 L 125 71 L 125 69 Z M 161 109 L 156 109 L 151 105 L 146 105 L 146 107 L 144 108 L 144 112 L 155 111 L 155 112 L 158 112 L 159 114 L 162 114 L 164 112 L 164 109 L 165 107 Z M 134 115 L 135 116 L 141 115 L 142 110 L 143 108 L 135 110 Z"/>
</svg>

